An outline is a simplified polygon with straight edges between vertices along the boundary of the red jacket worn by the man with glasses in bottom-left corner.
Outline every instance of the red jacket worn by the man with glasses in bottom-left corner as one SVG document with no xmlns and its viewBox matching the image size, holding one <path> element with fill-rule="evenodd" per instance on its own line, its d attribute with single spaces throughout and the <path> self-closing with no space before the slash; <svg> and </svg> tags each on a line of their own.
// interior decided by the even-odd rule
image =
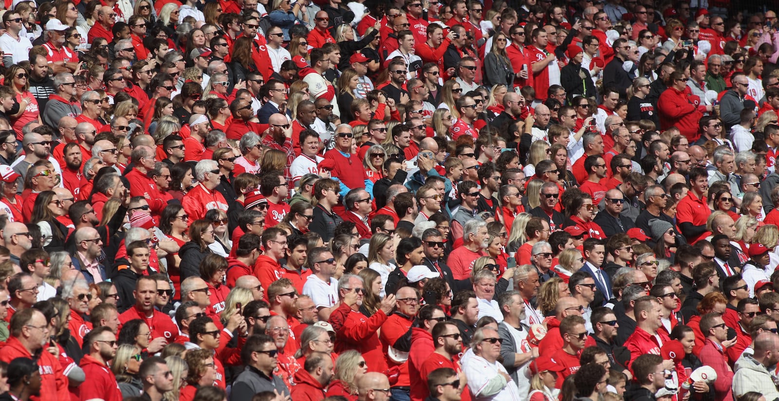
<svg viewBox="0 0 779 401">
<path fill-rule="evenodd" d="M 33 355 L 19 342 L 19 339 L 12 336 L 9 337 L 8 342 L 5 342 L 5 346 L 0 349 L 0 360 L 9 364 L 16 358 L 33 359 Z M 37 364 L 38 371 L 41 372 L 41 395 L 30 396 L 30 400 L 70 399 L 68 378 L 65 377 L 57 358 L 44 350 L 41 352 L 41 357 L 37 358 Z"/>
</svg>

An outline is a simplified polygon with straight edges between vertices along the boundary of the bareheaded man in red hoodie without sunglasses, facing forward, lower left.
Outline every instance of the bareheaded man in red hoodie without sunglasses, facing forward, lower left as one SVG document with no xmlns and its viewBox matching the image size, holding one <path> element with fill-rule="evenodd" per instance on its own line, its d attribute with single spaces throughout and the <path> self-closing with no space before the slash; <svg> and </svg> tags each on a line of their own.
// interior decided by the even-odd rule
<svg viewBox="0 0 779 401">
<path fill-rule="evenodd" d="M 139 277 L 133 295 L 136 299 L 135 306 L 119 315 L 122 325 L 133 319 L 141 319 L 149 326 L 152 343 L 164 345 L 166 342 L 172 342 L 178 335 L 178 327 L 171 318 L 154 309 L 157 299 L 157 281 L 145 275 Z"/>
</svg>

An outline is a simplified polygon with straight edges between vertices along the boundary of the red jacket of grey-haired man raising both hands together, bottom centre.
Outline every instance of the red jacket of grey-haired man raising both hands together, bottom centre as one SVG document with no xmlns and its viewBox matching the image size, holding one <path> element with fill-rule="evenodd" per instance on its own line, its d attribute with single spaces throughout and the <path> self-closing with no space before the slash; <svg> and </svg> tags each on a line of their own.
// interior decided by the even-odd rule
<svg viewBox="0 0 779 401">
<path fill-rule="evenodd" d="M 346 303 L 341 303 L 336 311 L 337 316 L 330 315 L 333 328 L 339 326 L 336 328 L 336 352 L 356 350 L 365 358 L 368 371 L 386 372 L 387 363 L 384 359 L 382 343 L 379 341 L 379 335 L 376 335 L 376 330 L 387 320 L 384 311 L 376 311 L 373 316 L 366 318 L 364 314 L 354 311 Z M 339 319 L 343 319 L 342 324 Z"/>
</svg>

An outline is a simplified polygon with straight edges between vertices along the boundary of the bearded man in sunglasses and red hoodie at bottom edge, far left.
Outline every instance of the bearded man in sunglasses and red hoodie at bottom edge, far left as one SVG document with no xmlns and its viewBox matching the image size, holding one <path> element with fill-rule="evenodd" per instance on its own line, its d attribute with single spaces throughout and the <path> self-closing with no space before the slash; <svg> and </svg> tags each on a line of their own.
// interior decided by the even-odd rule
<svg viewBox="0 0 779 401">
<path fill-rule="evenodd" d="M 79 399 L 121 401 L 122 392 L 108 367 L 109 362 L 116 357 L 116 335 L 111 332 L 111 328 L 99 327 L 86 336 L 84 344 L 84 349 L 89 353 L 81 358 L 79 367 L 87 380 L 78 387 Z"/>
</svg>

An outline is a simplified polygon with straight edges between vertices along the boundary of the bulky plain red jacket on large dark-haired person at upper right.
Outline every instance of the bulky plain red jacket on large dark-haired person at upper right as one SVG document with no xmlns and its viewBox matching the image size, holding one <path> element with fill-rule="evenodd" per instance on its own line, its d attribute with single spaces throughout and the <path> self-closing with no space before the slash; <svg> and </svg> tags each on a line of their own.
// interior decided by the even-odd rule
<svg viewBox="0 0 779 401">
<path fill-rule="evenodd" d="M 685 92 L 668 87 L 660 94 L 657 112 L 660 114 L 661 130 L 668 130 L 671 126 L 675 126 L 690 142 L 700 137 L 698 122 L 703 117 L 703 113 L 698 111 L 696 105 L 689 102 L 689 96 Z"/>
</svg>

